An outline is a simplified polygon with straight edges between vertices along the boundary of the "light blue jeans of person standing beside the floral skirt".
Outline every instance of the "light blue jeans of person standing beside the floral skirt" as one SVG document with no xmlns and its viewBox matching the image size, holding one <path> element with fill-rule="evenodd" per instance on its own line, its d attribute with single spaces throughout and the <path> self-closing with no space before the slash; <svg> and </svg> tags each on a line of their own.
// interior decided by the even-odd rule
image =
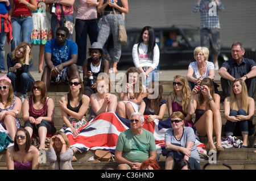
<svg viewBox="0 0 256 181">
<path fill-rule="evenodd" d="M 27 18 L 11 18 L 13 24 L 13 40 L 11 40 L 11 52 L 18 46 L 20 42 L 26 41 L 31 44 L 31 33 L 33 31 L 33 19 L 32 16 Z M 21 35 L 21 41 L 20 41 Z"/>
</svg>

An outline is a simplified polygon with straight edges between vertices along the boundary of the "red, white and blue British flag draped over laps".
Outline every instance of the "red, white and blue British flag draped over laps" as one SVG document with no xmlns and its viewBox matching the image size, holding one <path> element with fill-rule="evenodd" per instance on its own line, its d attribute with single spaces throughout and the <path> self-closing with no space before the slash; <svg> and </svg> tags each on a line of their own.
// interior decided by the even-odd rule
<svg viewBox="0 0 256 181">
<path fill-rule="evenodd" d="M 147 116 L 144 115 L 145 120 Z M 81 127 L 78 136 L 74 137 L 69 128 L 65 129 L 65 133 L 71 146 L 80 151 L 105 149 L 114 153 L 119 134 L 129 128 L 130 122 L 128 119 L 124 119 L 114 112 L 104 112 L 89 121 L 84 127 Z M 144 121 L 142 128 L 154 134 L 156 150 L 158 153 L 162 151 L 164 133 L 171 128 L 170 119 L 165 121 L 154 120 L 150 123 Z"/>
</svg>

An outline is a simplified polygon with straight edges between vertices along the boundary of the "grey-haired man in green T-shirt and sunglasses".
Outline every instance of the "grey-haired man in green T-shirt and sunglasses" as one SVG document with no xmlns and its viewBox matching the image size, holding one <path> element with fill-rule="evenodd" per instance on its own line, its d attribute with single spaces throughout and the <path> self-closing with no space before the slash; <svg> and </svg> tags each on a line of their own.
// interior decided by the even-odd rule
<svg viewBox="0 0 256 181">
<path fill-rule="evenodd" d="M 115 161 L 119 170 L 138 170 L 146 159 L 156 159 L 154 135 L 142 128 L 142 113 L 134 112 L 130 118 L 130 129 L 119 134 L 115 148 Z"/>
</svg>

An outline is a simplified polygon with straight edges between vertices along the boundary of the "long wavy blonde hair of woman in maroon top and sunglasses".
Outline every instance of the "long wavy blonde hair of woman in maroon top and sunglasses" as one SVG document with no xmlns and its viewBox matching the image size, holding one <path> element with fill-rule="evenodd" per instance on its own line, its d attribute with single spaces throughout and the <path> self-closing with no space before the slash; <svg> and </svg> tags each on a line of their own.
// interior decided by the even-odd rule
<svg viewBox="0 0 256 181">
<path fill-rule="evenodd" d="M 174 79 L 179 79 L 180 83 L 183 85 L 182 89 L 182 110 L 184 113 L 188 113 L 188 104 L 189 104 L 189 98 L 191 94 L 191 89 L 188 86 L 188 79 L 185 78 L 183 75 L 175 75 Z M 175 98 L 177 96 L 177 92 L 175 89 L 172 91 L 172 98 Z"/>
</svg>

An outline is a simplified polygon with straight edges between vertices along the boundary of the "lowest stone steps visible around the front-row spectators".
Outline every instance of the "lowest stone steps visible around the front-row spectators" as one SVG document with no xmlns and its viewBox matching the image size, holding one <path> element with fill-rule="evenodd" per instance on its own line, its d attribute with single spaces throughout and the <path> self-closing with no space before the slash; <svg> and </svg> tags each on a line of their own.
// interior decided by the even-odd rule
<svg viewBox="0 0 256 181">
<path fill-rule="evenodd" d="M 6 150 L 0 153 L 0 170 L 6 170 Z M 117 162 L 87 162 L 87 160 L 94 155 L 93 150 L 84 151 L 84 153 L 77 153 L 77 162 L 72 162 L 73 169 L 75 170 L 106 170 L 117 169 Z M 225 149 L 219 151 L 216 155 L 210 155 L 209 161 L 200 161 L 201 169 L 210 162 L 211 164 L 206 167 L 206 170 L 226 170 L 228 167 L 223 164 L 229 165 L 233 170 L 255 170 L 256 169 L 256 153 L 255 149 Z M 41 159 L 41 161 L 45 160 Z M 159 166 L 164 169 L 166 157 L 160 154 Z M 217 160 L 215 160 L 217 159 Z M 48 162 L 40 163 L 40 170 L 47 170 Z"/>
</svg>

